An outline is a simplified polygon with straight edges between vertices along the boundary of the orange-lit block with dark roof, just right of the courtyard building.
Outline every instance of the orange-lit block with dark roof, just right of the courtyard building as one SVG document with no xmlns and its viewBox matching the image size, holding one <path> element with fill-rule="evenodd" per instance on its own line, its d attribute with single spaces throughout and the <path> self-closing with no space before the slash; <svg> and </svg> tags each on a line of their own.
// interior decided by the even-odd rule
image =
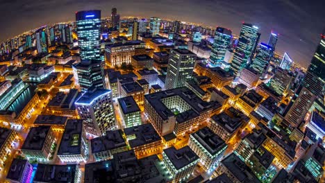
<svg viewBox="0 0 325 183">
<path fill-rule="evenodd" d="M 221 137 L 226 143 L 235 139 L 240 131 L 249 122 L 249 117 L 231 107 L 220 114 L 210 118 L 209 128 Z"/>
</svg>

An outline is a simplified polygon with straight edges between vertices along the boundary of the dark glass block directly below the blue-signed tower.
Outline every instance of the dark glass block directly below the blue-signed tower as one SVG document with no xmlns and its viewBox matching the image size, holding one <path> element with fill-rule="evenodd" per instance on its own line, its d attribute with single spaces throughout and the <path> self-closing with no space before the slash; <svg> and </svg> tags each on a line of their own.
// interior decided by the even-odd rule
<svg viewBox="0 0 325 183">
<path fill-rule="evenodd" d="M 76 85 L 85 92 L 90 87 L 103 88 L 105 86 L 105 77 L 101 61 L 82 60 L 72 65 Z"/>
</svg>

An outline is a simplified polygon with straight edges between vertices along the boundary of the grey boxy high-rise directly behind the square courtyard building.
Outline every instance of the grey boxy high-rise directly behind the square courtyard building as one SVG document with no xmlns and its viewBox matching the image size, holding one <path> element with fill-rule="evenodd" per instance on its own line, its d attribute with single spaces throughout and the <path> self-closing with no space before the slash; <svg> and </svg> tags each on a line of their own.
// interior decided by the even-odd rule
<svg viewBox="0 0 325 183">
<path fill-rule="evenodd" d="M 172 49 L 169 55 L 165 88 L 185 86 L 185 81 L 192 78 L 196 58 L 197 55 L 188 49 Z"/>
</svg>

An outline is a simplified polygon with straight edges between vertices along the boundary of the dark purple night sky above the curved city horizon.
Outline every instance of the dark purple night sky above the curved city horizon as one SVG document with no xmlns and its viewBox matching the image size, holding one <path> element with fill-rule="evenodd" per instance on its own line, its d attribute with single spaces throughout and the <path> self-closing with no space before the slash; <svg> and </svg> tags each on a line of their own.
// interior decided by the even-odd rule
<svg viewBox="0 0 325 183">
<path fill-rule="evenodd" d="M 102 17 L 117 8 L 123 16 L 157 16 L 223 26 L 240 32 L 242 21 L 256 24 L 267 42 L 271 30 L 280 33 L 276 51 L 287 51 L 308 67 L 325 28 L 324 0 L 0 0 L 0 42 L 45 24 L 74 20 L 78 10 L 100 9 Z M 322 16 L 323 15 L 323 16 Z"/>
</svg>

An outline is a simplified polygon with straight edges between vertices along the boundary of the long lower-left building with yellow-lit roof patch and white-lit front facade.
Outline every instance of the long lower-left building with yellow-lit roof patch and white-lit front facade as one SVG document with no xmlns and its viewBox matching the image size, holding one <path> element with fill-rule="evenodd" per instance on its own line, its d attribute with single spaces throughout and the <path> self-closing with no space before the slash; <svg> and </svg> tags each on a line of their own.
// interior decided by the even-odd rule
<svg viewBox="0 0 325 183">
<path fill-rule="evenodd" d="M 88 159 L 88 141 L 82 119 L 69 119 L 57 153 L 61 162 L 78 163 Z"/>
</svg>

